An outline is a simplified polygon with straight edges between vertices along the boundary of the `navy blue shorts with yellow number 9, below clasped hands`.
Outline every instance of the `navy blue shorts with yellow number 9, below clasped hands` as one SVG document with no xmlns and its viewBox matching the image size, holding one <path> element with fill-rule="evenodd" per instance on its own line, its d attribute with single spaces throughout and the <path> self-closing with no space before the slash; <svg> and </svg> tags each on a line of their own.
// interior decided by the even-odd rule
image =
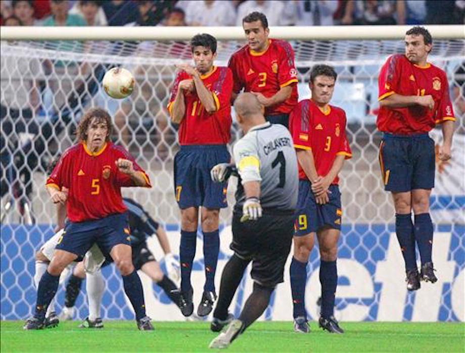
<svg viewBox="0 0 465 353">
<path fill-rule="evenodd" d="M 341 230 L 341 192 L 338 185 L 330 185 L 330 201 L 324 205 L 316 203 L 308 180 L 299 180 L 299 198 L 295 220 L 295 236 L 317 232 L 322 227 Z"/>
</svg>

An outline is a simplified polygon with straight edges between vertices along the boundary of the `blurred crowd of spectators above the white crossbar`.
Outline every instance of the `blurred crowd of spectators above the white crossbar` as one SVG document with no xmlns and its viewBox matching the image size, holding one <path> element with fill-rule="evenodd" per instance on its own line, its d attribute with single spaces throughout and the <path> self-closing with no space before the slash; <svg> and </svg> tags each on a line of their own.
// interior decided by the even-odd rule
<svg viewBox="0 0 465 353">
<path fill-rule="evenodd" d="M 465 0 L 2 0 L 5 26 L 270 26 L 463 24 Z"/>
</svg>

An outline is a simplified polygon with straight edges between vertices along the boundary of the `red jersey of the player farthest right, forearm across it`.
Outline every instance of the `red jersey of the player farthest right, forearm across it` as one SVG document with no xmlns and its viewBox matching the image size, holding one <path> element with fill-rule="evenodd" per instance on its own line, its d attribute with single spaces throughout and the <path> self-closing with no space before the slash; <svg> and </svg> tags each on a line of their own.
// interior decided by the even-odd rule
<svg viewBox="0 0 465 353">
<path fill-rule="evenodd" d="M 446 73 L 434 65 L 420 67 L 410 63 L 404 55 L 393 55 L 381 68 L 378 85 L 378 100 L 394 93 L 431 94 L 435 102 L 433 110 L 418 105 L 405 108 L 381 107 L 377 119 L 380 131 L 411 135 L 428 132 L 446 120 L 455 121 Z"/>
</svg>

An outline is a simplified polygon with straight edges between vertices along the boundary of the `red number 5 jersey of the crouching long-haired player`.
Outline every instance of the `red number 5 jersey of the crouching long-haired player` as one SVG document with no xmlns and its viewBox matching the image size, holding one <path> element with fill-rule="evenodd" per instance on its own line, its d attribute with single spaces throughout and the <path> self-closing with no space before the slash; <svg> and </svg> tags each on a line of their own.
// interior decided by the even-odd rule
<svg viewBox="0 0 465 353">
<path fill-rule="evenodd" d="M 107 142 L 97 153 L 81 142 L 68 148 L 56 165 L 46 185 L 69 190 L 67 212 L 72 222 L 100 219 L 126 212 L 121 197 L 122 186 L 135 186 L 131 178 L 115 165 L 119 158 L 131 160 L 133 168 L 144 174 L 147 187 L 152 187 L 147 173 L 120 146 Z"/>
</svg>

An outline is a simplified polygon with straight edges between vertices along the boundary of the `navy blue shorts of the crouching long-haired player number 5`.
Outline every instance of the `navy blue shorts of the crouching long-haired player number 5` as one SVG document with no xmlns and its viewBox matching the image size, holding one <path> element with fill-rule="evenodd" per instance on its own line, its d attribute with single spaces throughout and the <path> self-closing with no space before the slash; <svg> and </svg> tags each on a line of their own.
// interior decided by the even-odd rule
<svg viewBox="0 0 465 353">
<path fill-rule="evenodd" d="M 85 222 L 67 222 L 56 248 L 84 256 L 97 243 L 102 253 L 110 254 L 117 244 L 131 245 L 127 212 Z"/>
</svg>

